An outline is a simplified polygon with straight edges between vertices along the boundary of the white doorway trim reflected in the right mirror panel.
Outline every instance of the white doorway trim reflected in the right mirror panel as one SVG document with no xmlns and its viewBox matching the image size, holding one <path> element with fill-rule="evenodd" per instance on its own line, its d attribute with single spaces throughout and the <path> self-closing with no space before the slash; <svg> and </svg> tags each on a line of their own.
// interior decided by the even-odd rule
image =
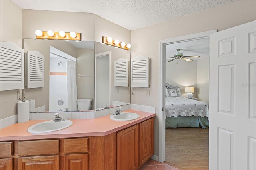
<svg viewBox="0 0 256 170">
<path fill-rule="evenodd" d="M 109 91 L 111 92 L 111 51 L 106 51 L 106 52 L 103 52 L 103 53 L 98 53 L 98 54 L 95 54 L 95 70 L 94 70 L 94 73 L 95 73 L 95 78 L 94 78 L 94 87 L 96 87 L 96 62 L 97 62 L 97 58 L 98 57 L 104 57 L 108 55 L 108 58 L 109 58 Z M 94 90 L 94 110 L 96 109 L 96 90 Z M 111 93 L 109 93 L 109 98 L 108 98 L 108 105 L 110 106 L 110 103 L 111 103 Z"/>
</svg>

